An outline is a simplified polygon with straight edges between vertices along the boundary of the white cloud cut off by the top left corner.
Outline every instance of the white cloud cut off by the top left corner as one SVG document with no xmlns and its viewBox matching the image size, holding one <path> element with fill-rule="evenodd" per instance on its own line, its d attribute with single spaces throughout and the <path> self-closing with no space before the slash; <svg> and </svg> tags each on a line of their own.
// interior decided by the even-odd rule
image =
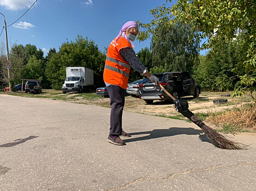
<svg viewBox="0 0 256 191">
<path fill-rule="evenodd" d="M 0 5 L 9 10 L 30 8 L 35 0 L 0 0 Z"/>
</svg>

